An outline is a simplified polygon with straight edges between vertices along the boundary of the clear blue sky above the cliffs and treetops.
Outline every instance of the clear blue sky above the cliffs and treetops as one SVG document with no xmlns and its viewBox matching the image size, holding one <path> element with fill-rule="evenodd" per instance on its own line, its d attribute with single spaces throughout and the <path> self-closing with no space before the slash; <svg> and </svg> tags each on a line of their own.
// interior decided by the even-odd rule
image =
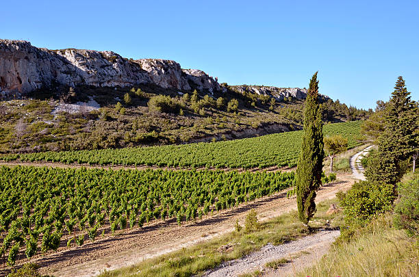
<svg viewBox="0 0 419 277">
<path fill-rule="evenodd" d="M 368 109 L 419 96 L 419 1 L 4 1 L 0 38 L 175 60 L 231 85 L 307 87 Z"/>
</svg>

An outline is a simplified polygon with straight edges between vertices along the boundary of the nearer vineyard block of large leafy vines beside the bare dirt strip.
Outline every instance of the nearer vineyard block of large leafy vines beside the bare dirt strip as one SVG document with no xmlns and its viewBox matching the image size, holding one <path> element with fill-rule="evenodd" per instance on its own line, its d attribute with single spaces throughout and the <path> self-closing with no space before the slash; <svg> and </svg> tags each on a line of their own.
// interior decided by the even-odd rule
<svg viewBox="0 0 419 277">
<path fill-rule="evenodd" d="M 0 167 L 0 254 L 8 265 L 102 232 L 178 224 L 292 186 L 294 172 Z M 6 258 L 7 257 L 7 258 Z"/>
</svg>

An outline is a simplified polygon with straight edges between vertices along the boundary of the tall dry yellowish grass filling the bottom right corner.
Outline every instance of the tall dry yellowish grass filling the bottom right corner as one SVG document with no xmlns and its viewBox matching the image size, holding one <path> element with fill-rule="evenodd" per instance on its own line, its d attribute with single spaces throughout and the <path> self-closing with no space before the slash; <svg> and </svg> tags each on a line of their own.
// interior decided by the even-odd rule
<svg viewBox="0 0 419 277">
<path fill-rule="evenodd" d="M 419 276 L 419 240 L 394 229 L 390 214 L 382 215 L 351 241 L 338 240 L 297 276 Z"/>
</svg>

